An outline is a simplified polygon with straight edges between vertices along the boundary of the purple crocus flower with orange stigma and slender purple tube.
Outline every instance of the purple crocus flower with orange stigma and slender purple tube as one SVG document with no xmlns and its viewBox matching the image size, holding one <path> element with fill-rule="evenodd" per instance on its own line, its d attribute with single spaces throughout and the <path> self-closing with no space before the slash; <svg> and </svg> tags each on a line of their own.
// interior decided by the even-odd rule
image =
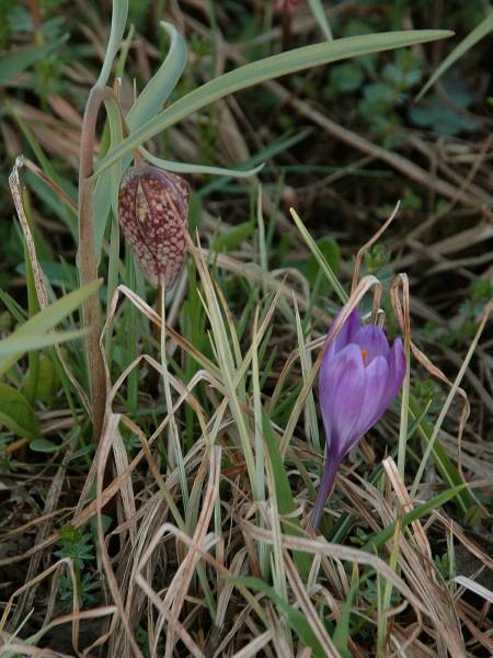
<svg viewBox="0 0 493 658">
<path fill-rule="evenodd" d="M 328 339 L 331 338 L 335 321 Z M 349 450 L 379 420 L 392 402 L 405 375 L 400 338 L 389 348 L 383 329 L 362 326 L 355 308 L 325 352 L 319 375 L 320 406 L 328 457 L 310 520 L 319 526 L 339 466 Z"/>
</svg>

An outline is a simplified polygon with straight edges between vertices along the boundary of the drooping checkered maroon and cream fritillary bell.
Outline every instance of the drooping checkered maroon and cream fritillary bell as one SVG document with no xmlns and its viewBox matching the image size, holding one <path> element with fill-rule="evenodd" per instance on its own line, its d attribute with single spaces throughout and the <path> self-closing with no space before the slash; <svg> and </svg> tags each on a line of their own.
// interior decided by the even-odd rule
<svg viewBox="0 0 493 658">
<path fill-rule="evenodd" d="M 185 259 L 190 185 L 151 164 L 130 167 L 119 185 L 118 215 L 144 275 L 171 288 Z"/>
</svg>

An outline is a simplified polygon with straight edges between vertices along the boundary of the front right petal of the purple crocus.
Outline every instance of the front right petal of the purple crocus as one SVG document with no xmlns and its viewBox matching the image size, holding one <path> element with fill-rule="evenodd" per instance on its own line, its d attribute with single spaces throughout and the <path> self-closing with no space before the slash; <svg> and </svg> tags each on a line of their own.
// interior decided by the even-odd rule
<svg viewBox="0 0 493 658">
<path fill-rule="evenodd" d="M 389 365 L 385 356 L 377 356 L 366 367 L 365 395 L 362 400 L 359 418 L 354 429 L 348 452 L 353 445 L 379 420 L 386 409 L 385 397 L 389 381 Z"/>
</svg>

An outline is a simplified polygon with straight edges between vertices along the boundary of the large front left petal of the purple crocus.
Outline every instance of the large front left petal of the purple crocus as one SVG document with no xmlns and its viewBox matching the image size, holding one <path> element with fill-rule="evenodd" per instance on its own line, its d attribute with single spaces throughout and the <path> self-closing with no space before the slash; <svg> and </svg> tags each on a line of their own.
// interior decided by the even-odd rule
<svg viewBox="0 0 493 658">
<path fill-rule="evenodd" d="M 329 458 L 344 454 L 345 445 L 354 434 L 365 381 L 365 365 L 357 345 L 347 345 L 332 359 L 325 354 L 320 367 L 319 390 Z"/>
</svg>

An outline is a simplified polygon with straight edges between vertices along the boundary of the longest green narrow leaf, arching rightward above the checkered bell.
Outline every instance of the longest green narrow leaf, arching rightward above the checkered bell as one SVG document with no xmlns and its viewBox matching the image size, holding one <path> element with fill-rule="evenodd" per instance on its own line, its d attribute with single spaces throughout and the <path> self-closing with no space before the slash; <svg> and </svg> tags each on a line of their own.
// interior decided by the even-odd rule
<svg viewBox="0 0 493 658">
<path fill-rule="evenodd" d="M 182 118 L 241 89 L 331 61 L 411 46 L 451 35 L 452 32 L 444 30 L 409 30 L 405 32 L 349 36 L 331 43 L 296 48 L 260 61 L 246 64 L 187 93 L 170 107 L 160 112 L 154 118 L 137 128 L 117 148 L 112 149 L 100 160 L 95 167 L 94 175 L 100 174 L 116 160 Z"/>
</svg>

